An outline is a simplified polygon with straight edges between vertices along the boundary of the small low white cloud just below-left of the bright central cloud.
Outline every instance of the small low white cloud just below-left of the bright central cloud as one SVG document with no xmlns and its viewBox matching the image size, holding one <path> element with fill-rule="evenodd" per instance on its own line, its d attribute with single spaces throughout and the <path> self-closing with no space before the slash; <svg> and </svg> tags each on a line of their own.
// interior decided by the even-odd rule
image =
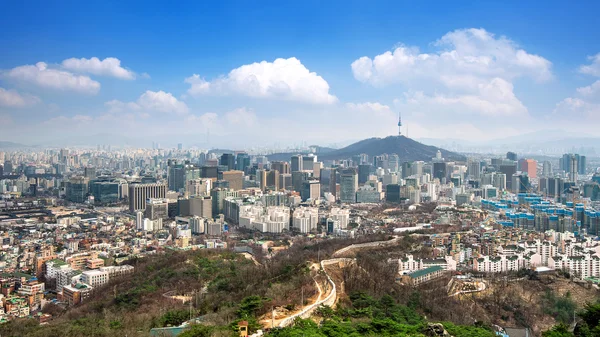
<svg viewBox="0 0 600 337">
<path fill-rule="evenodd" d="M 170 92 L 164 92 L 162 90 L 147 90 L 135 102 L 122 102 L 119 100 L 112 100 L 105 102 L 104 106 L 108 108 L 109 113 L 147 110 L 184 115 L 189 112 L 189 108 L 187 104 L 185 104 L 185 102 L 178 100 Z M 143 113 L 143 116 L 147 117 L 147 114 Z"/>
</svg>

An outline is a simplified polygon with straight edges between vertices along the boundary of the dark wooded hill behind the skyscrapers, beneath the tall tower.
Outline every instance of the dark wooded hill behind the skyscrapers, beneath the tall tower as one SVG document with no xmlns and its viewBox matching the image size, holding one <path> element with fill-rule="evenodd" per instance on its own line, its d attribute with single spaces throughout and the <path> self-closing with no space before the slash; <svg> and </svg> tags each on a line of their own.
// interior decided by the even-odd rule
<svg viewBox="0 0 600 337">
<path fill-rule="evenodd" d="M 369 157 L 378 156 L 384 153 L 395 153 L 400 157 L 401 161 L 430 161 L 441 151 L 442 156 L 447 160 L 465 161 L 466 157 L 440 149 L 435 146 L 425 145 L 405 136 L 389 136 L 386 138 L 369 138 L 361 140 L 354 144 L 348 145 L 341 149 L 327 149 L 318 154 L 319 160 L 336 160 L 347 159 L 352 156 L 365 153 Z M 298 153 L 276 153 L 269 155 L 269 160 L 290 160 L 292 155 Z"/>
</svg>

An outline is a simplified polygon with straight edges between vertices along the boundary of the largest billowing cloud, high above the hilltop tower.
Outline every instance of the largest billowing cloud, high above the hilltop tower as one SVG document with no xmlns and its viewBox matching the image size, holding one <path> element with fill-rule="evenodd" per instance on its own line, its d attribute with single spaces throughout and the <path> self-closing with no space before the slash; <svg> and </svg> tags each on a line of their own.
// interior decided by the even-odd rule
<svg viewBox="0 0 600 337">
<path fill-rule="evenodd" d="M 352 72 L 357 80 L 378 86 L 433 80 L 448 87 L 474 87 L 494 77 L 506 80 L 521 76 L 537 80 L 552 77 L 550 61 L 484 29 L 455 30 L 434 46 L 439 48 L 434 53 L 400 46 L 373 59 L 363 56 L 352 63 Z"/>
</svg>

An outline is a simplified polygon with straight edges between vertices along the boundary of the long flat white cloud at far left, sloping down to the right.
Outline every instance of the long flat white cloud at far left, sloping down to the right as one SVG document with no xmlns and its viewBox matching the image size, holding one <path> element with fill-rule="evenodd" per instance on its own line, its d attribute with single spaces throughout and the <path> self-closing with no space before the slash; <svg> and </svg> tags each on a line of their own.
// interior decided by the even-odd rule
<svg viewBox="0 0 600 337">
<path fill-rule="evenodd" d="M 48 68 L 48 65 L 44 62 L 13 68 L 6 72 L 6 76 L 17 81 L 56 90 L 76 91 L 85 94 L 96 94 L 100 90 L 100 83 L 88 76 Z"/>
</svg>

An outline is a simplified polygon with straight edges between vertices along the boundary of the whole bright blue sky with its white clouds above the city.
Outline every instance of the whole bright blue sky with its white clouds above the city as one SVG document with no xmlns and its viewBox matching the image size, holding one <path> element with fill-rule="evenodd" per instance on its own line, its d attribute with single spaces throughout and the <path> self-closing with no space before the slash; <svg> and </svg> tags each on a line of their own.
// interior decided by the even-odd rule
<svg viewBox="0 0 600 337">
<path fill-rule="evenodd" d="M 200 143 L 210 129 L 232 146 L 335 143 L 393 134 L 398 111 L 414 137 L 593 133 L 598 12 L 593 1 L 9 3 L 0 139 Z"/>
</svg>

